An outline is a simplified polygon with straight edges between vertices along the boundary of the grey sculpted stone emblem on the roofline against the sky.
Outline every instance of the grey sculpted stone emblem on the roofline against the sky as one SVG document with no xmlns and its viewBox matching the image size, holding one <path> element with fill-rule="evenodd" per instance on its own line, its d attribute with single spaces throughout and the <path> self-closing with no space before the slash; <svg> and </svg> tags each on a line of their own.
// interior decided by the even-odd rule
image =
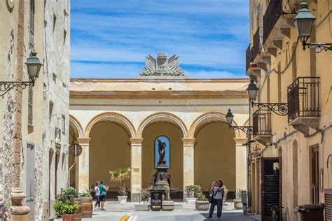
<svg viewBox="0 0 332 221">
<path fill-rule="evenodd" d="M 179 67 L 179 56 L 173 55 L 167 59 L 167 54 L 160 53 L 157 59 L 146 56 L 146 66 L 139 76 L 187 76 Z"/>
</svg>

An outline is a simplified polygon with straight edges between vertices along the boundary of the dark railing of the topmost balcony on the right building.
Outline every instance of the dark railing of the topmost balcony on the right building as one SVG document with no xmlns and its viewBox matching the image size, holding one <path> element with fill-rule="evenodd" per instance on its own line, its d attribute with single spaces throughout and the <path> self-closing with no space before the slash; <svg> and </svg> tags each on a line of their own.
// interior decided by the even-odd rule
<svg viewBox="0 0 332 221">
<path fill-rule="evenodd" d="M 279 17 L 282 15 L 282 1 L 283 0 L 271 0 L 268 4 L 268 8 L 265 11 L 263 16 L 263 43 L 270 35 L 275 23 L 279 20 Z"/>
</svg>

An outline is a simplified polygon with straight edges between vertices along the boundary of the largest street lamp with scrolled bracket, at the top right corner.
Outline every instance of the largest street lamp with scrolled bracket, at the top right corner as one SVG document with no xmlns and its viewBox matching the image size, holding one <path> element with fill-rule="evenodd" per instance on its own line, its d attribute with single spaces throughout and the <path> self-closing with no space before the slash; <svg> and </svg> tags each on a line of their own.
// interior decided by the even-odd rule
<svg viewBox="0 0 332 221">
<path fill-rule="evenodd" d="M 323 50 L 332 50 L 332 43 L 307 43 L 310 38 L 314 20 L 316 20 L 316 17 L 307 9 L 307 3 L 305 1 L 300 3 L 300 10 L 298 10 L 298 15 L 295 17 L 295 27 L 298 37 L 302 42 L 303 50 L 305 50 L 305 46 L 314 49 L 316 53 L 320 53 Z"/>
</svg>

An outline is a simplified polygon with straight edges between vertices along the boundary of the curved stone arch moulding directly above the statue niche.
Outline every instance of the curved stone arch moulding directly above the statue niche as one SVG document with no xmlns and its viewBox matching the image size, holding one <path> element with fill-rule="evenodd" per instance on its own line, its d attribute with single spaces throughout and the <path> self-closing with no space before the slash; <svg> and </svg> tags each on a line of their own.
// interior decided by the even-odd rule
<svg viewBox="0 0 332 221">
<path fill-rule="evenodd" d="M 143 134 L 144 129 L 155 122 L 169 122 L 171 124 L 175 124 L 177 127 L 179 127 L 182 131 L 182 134 L 184 134 L 184 137 L 188 137 L 188 129 L 186 127 L 186 124 L 184 124 L 183 120 L 181 120 L 180 117 L 177 115 L 174 115 L 172 113 L 167 112 L 158 112 L 153 113 L 151 115 L 148 115 L 141 124 L 139 124 L 139 127 L 137 129 L 137 137 L 141 137 Z"/>
</svg>

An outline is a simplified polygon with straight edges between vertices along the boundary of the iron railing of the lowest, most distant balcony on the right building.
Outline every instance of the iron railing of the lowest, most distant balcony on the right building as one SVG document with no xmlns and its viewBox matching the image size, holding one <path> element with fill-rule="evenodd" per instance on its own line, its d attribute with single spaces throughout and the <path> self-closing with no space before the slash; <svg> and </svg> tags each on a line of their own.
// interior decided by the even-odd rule
<svg viewBox="0 0 332 221">
<path fill-rule="evenodd" d="M 253 114 L 253 134 L 271 135 L 271 111 L 256 110 Z"/>
</svg>

